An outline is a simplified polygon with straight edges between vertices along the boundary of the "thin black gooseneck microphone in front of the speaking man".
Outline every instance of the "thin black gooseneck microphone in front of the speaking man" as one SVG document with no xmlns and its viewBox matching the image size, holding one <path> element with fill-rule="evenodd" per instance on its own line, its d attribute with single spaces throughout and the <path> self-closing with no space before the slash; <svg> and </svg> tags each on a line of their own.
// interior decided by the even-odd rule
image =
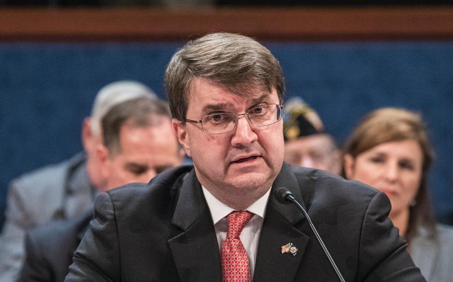
<svg viewBox="0 0 453 282">
<path fill-rule="evenodd" d="M 341 276 L 340 270 L 338 269 L 337 265 L 334 262 L 334 259 L 332 258 L 331 254 L 326 248 L 326 245 L 324 245 L 323 240 L 318 234 L 318 231 L 316 231 L 315 225 L 313 225 L 312 220 L 310 219 L 310 216 L 308 216 L 307 211 L 297 202 L 296 198 L 294 198 L 293 193 L 286 189 L 285 187 L 280 187 L 275 190 L 275 198 L 277 198 L 277 201 L 282 203 L 282 204 L 294 204 L 296 207 L 302 211 L 304 214 L 305 218 L 307 218 L 308 223 L 310 224 L 310 228 L 312 228 L 313 233 L 316 236 L 316 239 L 318 240 L 319 244 L 321 245 L 321 248 L 323 248 L 324 253 L 326 254 L 327 258 L 329 259 L 329 262 L 331 263 L 332 267 L 335 270 L 335 273 L 337 273 L 338 278 L 340 279 L 341 282 L 344 282 L 343 276 Z"/>
</svg>

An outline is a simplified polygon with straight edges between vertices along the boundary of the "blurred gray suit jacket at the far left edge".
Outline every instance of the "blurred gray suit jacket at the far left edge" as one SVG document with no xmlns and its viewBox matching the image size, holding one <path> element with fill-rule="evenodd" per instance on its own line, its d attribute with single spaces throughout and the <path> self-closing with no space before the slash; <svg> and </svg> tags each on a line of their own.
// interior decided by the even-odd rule
<svg viewBox="0 0 453 282">
<path fill-rule="evenodd" d="M 83 153 L 11 181 L 0 235 L 0 282 L 17 279 L 27 229 L 92 209 L 93 191 Z"/>
</svg>

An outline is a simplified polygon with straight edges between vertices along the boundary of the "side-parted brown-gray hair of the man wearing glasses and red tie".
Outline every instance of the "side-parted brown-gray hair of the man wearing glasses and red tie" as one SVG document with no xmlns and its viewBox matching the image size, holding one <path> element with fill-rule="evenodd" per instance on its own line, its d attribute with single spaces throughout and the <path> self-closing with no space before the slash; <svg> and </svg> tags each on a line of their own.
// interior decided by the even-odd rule
<svg viewBox="0 0 453 282">
<path fill-rule="evenodd" d="M 280 64 L 257 41 L 239 34 L 212 33 L 188 42 L 177 51 L 165 71 L 165 86 L 173 118 L 186 118 L 190 83 L 205 77 L 239 96 L 257 89 L 277 91 L 280 103 L 285 91 Z"/>
</svg>

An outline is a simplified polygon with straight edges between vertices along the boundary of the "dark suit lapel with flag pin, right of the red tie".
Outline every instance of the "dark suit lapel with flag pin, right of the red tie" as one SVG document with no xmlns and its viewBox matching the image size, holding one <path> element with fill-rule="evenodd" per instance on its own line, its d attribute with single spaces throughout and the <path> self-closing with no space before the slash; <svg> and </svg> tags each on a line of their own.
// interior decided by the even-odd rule
<svg viewBox="0 0 453 282">
<path fill-rule="evenodd" d="M 275 199 L 273 193 L 279 187 L 290 190 L 304 207 L 299 183 L 291 168 L 284 163 L 267 204 L 253 281 L 293 281 L 309 242 L 309 237 L 298 229 L 306 222 L 303 214 L 295 206 L 281 204 Z M 287 243 L 297 247 L 295 256 L 282 254 L 281 246 Z"/>
</svg>

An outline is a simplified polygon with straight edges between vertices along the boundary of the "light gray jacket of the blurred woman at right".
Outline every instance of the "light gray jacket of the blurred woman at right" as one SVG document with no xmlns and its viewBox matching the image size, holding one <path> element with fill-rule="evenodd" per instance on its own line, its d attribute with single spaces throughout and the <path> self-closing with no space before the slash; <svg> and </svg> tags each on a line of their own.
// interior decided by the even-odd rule
<svg viewBox="0 0 453 282">
<path fill-rule="evenodd" d="M 419 230 L 411 242 L 411 255 L 428 282 L 453 281 L 453 227 L 437 224 L 437 238 Z"/>
</svg>

